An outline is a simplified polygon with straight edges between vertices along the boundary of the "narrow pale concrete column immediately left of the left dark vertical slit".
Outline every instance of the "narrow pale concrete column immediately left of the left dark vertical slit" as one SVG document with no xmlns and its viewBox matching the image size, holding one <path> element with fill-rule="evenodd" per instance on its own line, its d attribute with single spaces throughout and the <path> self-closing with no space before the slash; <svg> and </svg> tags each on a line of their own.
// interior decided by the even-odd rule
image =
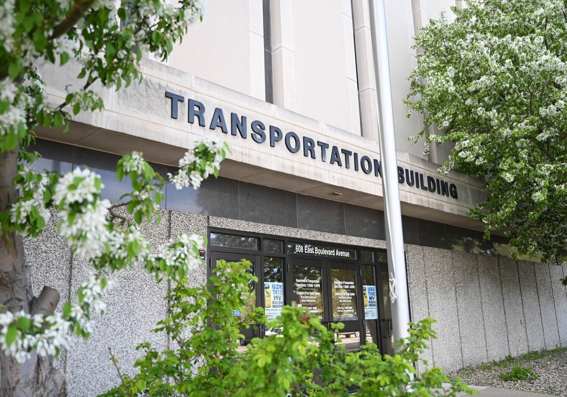
<svg viewBox="0 0 567 397">
<path fill-rule="evenodd" d="M 266 100 L 264 71 L 264 16 L 260 0 L 248 1 L 250 36 L 250 95 Z"/>
</svg>

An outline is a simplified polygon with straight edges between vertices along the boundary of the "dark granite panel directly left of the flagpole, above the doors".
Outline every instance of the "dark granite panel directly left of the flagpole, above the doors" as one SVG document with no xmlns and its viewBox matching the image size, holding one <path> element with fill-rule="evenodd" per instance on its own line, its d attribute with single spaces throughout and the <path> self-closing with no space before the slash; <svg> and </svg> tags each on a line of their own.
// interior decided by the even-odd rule
<svg viewBox="0 0 567 397">
<path fill-rule="evenodd" d="M 345 203 L 346 234 L 385 240 L 384 212 Z"/>
</svg>

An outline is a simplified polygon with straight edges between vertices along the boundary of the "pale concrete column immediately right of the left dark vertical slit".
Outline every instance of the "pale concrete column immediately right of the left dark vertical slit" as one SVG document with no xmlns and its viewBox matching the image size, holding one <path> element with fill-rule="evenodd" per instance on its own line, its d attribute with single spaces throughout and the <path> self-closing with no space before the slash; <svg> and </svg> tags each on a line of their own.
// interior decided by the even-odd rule
<svg viewBox="0 0 567 397">
<path fill-rule="evenodd" d="M 293 3 L 270 0 L 274 105 L 297 111 Z"/>
</svg>

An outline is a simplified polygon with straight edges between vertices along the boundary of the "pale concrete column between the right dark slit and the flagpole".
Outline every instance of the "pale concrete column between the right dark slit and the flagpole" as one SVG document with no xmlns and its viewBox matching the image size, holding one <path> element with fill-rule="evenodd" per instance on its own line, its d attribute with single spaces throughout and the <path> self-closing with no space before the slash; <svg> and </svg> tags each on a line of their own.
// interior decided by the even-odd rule
<svg viewBox="0 0 567 397">
<path fill-rule="evenodd" d="M 378 101 L 368 0 L 352 0 L 362 136 L 378 142 Z"/>
</svg>

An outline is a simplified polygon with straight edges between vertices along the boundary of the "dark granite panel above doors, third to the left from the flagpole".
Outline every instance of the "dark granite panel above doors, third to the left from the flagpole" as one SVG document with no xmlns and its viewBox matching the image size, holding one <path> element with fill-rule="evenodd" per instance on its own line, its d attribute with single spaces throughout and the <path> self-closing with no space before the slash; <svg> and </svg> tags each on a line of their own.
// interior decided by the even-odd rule
<svg viewBox="0 0 567 397">
<path fill-rule="evenodd" d="M 239 183 L 239 219 L 297 227 L 297 198 L 290 191 Z"/>
</svg>

